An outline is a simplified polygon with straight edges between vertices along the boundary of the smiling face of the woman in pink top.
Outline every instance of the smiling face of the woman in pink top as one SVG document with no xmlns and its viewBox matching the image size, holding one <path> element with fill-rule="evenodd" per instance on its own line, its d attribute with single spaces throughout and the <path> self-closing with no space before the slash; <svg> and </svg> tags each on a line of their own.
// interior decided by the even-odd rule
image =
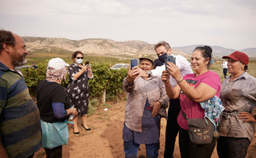
<svg viewBox="0 0 256 158">
<path fill-rule="evenodd" d="M 193 51 L 191 56 L 191 66 L 196 73 L 201 73 L 203 71 L 207 71 L 207 64 L 209 63 L 209 59 L 205 59 L 202 56 L 201 51 L 196 49 Z"/>
</svg>

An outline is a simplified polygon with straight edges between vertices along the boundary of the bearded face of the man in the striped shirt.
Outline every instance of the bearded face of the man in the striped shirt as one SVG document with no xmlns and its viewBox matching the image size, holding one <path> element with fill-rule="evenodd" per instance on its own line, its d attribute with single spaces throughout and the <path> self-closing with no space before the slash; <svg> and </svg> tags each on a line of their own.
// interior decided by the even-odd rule
<svg viewBox="0 0 256 158">
<path fill-rule="evenodd" d="M 8 52 L 12 59 L 12 65 L 14 65 L 14 67 L 26 65 L 26 55 L 28 51 L 26 50 L 25 42 L 17 34 L 13 35 L 15 38 L 15 45 L 10 46 L 10 51 Z"/>
</svg>

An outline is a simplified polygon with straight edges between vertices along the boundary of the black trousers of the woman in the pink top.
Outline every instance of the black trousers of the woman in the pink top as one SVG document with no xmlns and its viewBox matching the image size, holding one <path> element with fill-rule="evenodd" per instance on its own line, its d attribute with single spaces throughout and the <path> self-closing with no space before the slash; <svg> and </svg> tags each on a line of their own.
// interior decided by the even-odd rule
<svg viewBox="0 0 256 158">
<path fill-rule="evenodd" d="M 179 131 L 181 158 L 210 158 L 215 148 L 217 138 L 211 144 L 193 144 L 189 139 L 189 132 L 183 128 Z"/>
</svg>

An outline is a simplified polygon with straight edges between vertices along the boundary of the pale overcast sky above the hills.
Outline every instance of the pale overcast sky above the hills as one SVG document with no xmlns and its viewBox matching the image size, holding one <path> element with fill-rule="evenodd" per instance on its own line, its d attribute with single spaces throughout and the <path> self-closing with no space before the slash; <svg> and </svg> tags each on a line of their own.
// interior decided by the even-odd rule
<svg viewBox="0 0 256 158">
<path fill-rule="evenodd" d="M 20 36 L 256 47 L 256 0 L 0 0 Z"/>
</svg>

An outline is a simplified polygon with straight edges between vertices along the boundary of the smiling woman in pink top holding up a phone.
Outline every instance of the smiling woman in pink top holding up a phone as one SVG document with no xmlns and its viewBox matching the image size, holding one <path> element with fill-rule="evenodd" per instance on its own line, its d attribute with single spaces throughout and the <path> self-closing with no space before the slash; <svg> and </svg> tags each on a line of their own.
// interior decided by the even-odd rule
<svg viewBox="0 0 256 158">
<path fill-rule="evenodd" d="M 177 65 L 168 63 L 168 72 L 163 71 L 162 81 L 165 82 L 165 89 L 168 96 L 172 99 L 180 97 L 181 110 L 188 118 L 204 118 L 205 109 L 201 108 L 200 102 L 207 101 L 221 91 L 221 81 L 217 73 L 209 71 L 212 49 L 205 46 L 198 46 L 193 50 L 191 57 L 191 66 L 195 73 L 181 76 Z M 177 81 L 173 87 L 169 83 L 169 77 Z M 177 123 L 180 125 L 179 144 L 181 157 L 210 157 L 216 144 L 213 138 L 211 144 L 193 144 L 189 140 L 187 120 L 180 113 L 177 117 Z"/>
</svg>

